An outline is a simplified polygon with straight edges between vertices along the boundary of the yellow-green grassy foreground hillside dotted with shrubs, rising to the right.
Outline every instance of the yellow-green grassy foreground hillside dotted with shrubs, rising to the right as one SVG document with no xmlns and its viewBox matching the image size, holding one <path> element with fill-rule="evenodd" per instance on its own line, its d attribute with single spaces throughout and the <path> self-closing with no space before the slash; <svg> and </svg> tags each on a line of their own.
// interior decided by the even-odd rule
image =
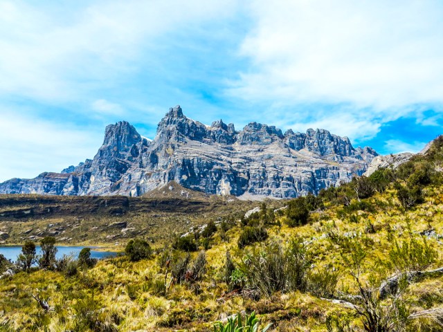
<svg viewBox="0 0 443 332">
<path fill-rule="evenodd" d="M 168 241 L 151 243 L 150 258 L 0 279 L 0 331 L 214 331 L 241 311 L 268 331 L 442 331 L 442 160 L 439 138 L 426 156 L 318 197 L 171 212 L 156 233 Z M 166 228 L 191 215 L 206 230 Z"/>
</svg>

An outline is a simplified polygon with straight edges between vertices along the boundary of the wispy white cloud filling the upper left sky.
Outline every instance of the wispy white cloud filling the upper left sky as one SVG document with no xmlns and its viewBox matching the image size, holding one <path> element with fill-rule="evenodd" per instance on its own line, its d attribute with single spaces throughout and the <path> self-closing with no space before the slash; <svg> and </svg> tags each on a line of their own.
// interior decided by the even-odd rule
<svg viewBox="0 0 443 332">
<path fill-rule="evenodd" d="M 88 3 L 88 2 L 87 2 Z M 235 12 L 235 1 L 0 3 L 0 95 L 67 102 L 137 71 L 162 36 Z"/>
</svg>

